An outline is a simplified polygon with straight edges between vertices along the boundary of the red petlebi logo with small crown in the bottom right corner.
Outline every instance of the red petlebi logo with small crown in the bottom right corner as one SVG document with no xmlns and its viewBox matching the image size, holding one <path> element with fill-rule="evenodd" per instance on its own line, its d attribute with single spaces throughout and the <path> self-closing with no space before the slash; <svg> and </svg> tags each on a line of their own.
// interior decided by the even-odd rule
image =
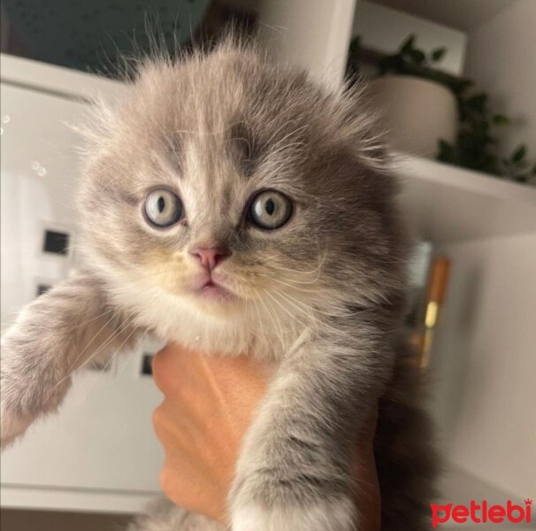
<svg viewBox="0 0 536 531">
<path fill-rule="evenodd" d="M 512 524 L 521 524 L 532 522 L 532 500 L 527 498 L 525 505 L 513 504 L 508 500 L 506 504 L 488 504 L 486 500 L 477 503 L 471 500 L 469 505 L 454 504 L 430 504 L 432 509 L 432 527 L 436 529 L 440 524 L 455 522 L 464 524 L 473 522 L 475 524 L 502 524 L 510 522 Z"/>
</svg>

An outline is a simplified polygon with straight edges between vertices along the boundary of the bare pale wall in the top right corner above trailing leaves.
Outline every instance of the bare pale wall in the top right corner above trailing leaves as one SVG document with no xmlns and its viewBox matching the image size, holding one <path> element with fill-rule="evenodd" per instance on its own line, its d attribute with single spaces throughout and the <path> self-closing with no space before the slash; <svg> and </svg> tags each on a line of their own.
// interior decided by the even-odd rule
<svg viewBox="0 0 536 531">
<path fill-rule="evenodd" d="M 499 131 L 502 153 L 525 142 L 536 158 L 536 2 L 515 0 L 469 33 L 465 73 L 515 122 Z"/>
</svg>

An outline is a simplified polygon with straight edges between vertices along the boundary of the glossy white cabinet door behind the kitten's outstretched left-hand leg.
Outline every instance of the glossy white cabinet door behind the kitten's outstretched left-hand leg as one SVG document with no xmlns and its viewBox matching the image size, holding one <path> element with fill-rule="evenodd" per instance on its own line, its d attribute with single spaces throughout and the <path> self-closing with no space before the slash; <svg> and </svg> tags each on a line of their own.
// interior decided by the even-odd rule
<svg viewBox="0 0 536 531">
<path fill-rule="evenodd" d="M 76 123 L 86 105 L 2 84 L 3 327 L 39 286 L 53 285 L 75 265 L 72 251 L 44 252 L 43 245 L 47 230 L 52 248 L 54 234 L 64 235 L 60 243 L 65 235 L 76 239 L 80 138 L 67 124 Z M 3 452 L 4 505 L 113 510 L 103 500 L 157 493 L 163 455 L 150 416 L 160 395 L 141 373 L 142 353 L 155 347 L 145 343 L 105 372 L 77 375 L 59 413 Z M 73 493 L 79 494 L 74 500 Z M 141 509 L 142 497 L 117 510 Z"/>
</svg>

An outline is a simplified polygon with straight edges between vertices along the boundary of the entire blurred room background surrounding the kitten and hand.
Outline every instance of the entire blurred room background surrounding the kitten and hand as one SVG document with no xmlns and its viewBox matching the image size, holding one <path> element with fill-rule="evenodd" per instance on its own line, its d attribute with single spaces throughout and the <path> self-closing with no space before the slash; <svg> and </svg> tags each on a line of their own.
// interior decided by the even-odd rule
<svg viewBox="0 0 536 531">
<path fill-rule="evenodd" d="M 233 24 L 331 89 L 369 82 L 418 242 L 407 326 L 442 499 L 536 496 L 534 0 L 2 0 L 1 15 L 2 331 L 77 265 L 69 125 L 126 94 L 128 58 L 211 46 Z M 3 453 L 4 531 L 117 529 L 158 495 L 158 347 L 80 373 Z"/>
</svg>

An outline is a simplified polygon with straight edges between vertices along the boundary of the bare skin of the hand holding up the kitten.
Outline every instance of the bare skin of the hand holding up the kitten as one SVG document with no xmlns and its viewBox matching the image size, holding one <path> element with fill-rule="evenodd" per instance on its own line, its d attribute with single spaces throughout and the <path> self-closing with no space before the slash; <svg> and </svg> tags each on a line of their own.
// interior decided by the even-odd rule
<svg viewBox="0 0 536 531">
<path fill-rule="evenodd" d="M 271 366 L 250 358 L 209 357 L 176 344 L 157 353 L 153 377 L 164 401 L 153 426 L 165 450 L 160 483 L 172 502 L 227 523 L 234 464 L 271 374 Z M 356 506 L 364 531 L 379 530 L 376 417 L 374 411 L 356 445 Z"/>
</svg>

